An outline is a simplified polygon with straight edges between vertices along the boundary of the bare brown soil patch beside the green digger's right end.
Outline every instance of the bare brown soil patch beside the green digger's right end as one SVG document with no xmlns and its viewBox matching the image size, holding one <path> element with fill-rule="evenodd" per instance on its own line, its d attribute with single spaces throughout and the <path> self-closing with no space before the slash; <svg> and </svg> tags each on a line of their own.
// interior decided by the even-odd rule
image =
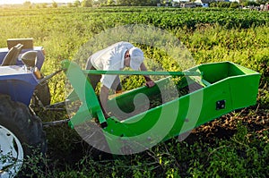
<svg viewBox="0 0 269 178">
<path fill-rule="evenodd" d="M 253 111 L 255 113 L 252 113 Z M 204 142 L 211 143 L 216 139 L 230 139 L 238 131 L 239 124 L 247 126 L 247 131 L 256 132 L 259 137 L 262 137 L 265 131 L 269 131 L 269 112 L 253 106 L 225 114 L 195 128 L 191 131 L 187 142 L 193 143 L 202 139 Z"/>
</svg>

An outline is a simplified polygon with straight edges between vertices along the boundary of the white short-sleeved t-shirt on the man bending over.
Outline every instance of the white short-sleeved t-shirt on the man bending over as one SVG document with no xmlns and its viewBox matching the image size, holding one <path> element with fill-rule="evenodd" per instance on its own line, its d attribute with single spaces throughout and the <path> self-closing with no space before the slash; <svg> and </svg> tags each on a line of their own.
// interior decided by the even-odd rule
<svg viewBox="0 0 269 178">
<path fill-rule="evenodd" d="M 119 71 L 124 66 L 125 54 L 128 49 L 134 47 L 129 42 L 118 42 L 110 47 L 102 49 L 93 55 L 91 55 L 91 64 L 97 70 L 104 71 Z M 113 81 L 117 75 L 106 75 L 103 74 L 100 82 L 105 85 L 108 89 L 111 88 Z"/>
</svg>

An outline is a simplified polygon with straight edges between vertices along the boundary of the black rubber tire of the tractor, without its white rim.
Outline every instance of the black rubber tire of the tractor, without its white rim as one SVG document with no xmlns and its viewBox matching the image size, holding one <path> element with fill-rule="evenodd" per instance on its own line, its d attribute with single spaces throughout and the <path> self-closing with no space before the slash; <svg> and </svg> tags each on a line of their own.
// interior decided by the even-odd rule
<svg viewBox="0 0 269 178">
<path fill-rule="evenodd" d="M 45 131 L 38 116 L 30 114 L 27 106 L 14 102 L 7 95 L 0 94 L 0 124 L 21 141 L 24 155 L 30 155 L 35 148 L 42 153 L 47 150 Z M 30 147 L 29 147 L 30 146 Z"/>
</svg>

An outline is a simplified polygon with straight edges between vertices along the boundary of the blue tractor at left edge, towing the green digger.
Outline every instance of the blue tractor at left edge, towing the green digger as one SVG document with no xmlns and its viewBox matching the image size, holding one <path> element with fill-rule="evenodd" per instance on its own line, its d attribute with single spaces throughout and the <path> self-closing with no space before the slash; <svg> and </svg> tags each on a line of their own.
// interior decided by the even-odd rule
<svg viewBox="0 0 269 178">
<path fill-rule="evenodd" d="M 12 38 L 0 48 L 0 177 L 21 169 L 32 148 L 46 151 L 42 122 L 30 106 L 47 106 L 50 94 L 40 72 L 43 47 L 33 47 L 32 38 Z"/>
</svg>

